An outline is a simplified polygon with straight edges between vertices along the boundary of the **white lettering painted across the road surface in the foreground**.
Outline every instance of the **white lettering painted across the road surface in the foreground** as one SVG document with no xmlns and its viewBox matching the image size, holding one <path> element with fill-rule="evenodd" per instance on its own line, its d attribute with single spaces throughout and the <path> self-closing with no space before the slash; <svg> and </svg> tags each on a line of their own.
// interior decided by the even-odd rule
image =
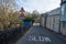
<svg viewBox="0 0 66 44">
<path fill-rule="evenodd" d="M 45 36 L 29 36 L 29 41 L 33 41 L 33 42 L 52 42 L 50 37 L 45 37 Z"/>
</svg>

